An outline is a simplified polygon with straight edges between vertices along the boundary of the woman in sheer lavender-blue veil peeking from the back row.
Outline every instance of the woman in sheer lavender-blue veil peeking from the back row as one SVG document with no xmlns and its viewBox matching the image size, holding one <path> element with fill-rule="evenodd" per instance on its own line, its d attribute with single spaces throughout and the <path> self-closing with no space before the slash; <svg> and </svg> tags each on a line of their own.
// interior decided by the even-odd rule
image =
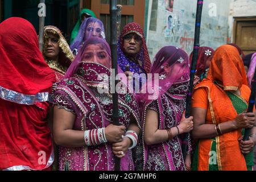
<svg viewBox="0 0 256 182">
<path fill-rule="evenodd" d="M 85 41 L 91 36 L 97 36 L 99 38 L 105 39 L 104 24 L 100 19 L 97 18 L 87 18 L 82 22 L 79 33 L 76 39 L 71 44 L 70 48 L 73 54 L 76 56 L 80 48 L 83 46 Z"/>
</svg>

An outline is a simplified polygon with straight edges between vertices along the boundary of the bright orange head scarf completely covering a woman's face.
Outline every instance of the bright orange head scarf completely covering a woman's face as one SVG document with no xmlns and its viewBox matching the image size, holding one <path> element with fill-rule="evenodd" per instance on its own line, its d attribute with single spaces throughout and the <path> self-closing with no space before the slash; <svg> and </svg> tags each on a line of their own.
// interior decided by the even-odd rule
<svg viewBox="0 0 256 182">
<path fill-rule="evenodd" d="M 236 47 L 224 45 L 217 48 L 207 79 L 221 82 L 224 90 L 236 91 L 243 84 L 247 85 L 243 61 Z"/>
</svg>

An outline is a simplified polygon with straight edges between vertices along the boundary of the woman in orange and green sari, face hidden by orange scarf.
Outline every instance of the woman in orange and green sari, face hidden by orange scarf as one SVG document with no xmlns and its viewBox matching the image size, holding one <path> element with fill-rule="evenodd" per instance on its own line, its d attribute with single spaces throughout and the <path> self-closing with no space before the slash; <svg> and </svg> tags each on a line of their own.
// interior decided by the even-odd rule
<svg viewBox="0 0 256 182">
<path fill-rule="evenodd" d="M 195 87 L 192 97 L 192 135 L 198 139 L 193 170 L 252 169 L 243 156 L 253 150 L 256 142 L 255 113 L 245 113 L 249 97 L 250 88 L 237 49 L 219 47 L 207 78 Z M 242 141 L 242 130 L 247 128 L 252 129 L 250 140 Z"/>
</svg>

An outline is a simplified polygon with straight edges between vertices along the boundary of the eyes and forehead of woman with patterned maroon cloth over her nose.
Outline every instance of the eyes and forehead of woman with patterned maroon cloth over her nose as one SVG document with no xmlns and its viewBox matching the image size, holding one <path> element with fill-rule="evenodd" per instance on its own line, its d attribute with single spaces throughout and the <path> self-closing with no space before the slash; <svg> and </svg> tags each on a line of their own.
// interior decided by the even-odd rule
<svg viewBox="0 0 256 182">
<path fill-rule="evenodd" d="M 106 52 L 101 44 L 88 45 L 82 55 L 82 61 L 100 63 L 107 68 L 110 68 L 111 63 L 108 52 Z"/>
</svg>

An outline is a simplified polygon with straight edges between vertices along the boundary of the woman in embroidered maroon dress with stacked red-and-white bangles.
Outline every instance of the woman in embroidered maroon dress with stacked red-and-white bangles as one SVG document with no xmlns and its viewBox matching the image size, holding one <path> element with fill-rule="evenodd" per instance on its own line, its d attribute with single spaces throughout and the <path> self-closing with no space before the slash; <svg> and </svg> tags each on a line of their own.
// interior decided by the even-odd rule
<svg viewBox="0 0 256 182">
<path fill-rule="evenodd" d="M 53 135 L 59 148 L 59 169 L 112 171 L 114 156 L 121 170 L 134 170 L 131 149 L 140 133 L 138 106 L 133 94 L 119 93 L 119 122 L 114 126 L 109 92 L 109 44 L 90 38 L 54 86 Z"/>
</svg>

